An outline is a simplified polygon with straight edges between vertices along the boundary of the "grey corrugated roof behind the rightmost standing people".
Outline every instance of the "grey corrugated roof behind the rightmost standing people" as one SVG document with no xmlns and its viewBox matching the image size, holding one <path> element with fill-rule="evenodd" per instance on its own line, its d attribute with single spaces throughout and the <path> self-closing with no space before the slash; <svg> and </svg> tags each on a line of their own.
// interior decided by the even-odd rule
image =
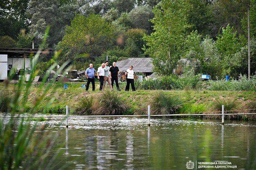
<svg viewBox="0 0 256 170">
<path fill-rule="evenodd" d="M 130 65 L 133 65 L 133 71 L 136 73 L 153 72 L 151 58 L 127 58 L 116 62 L 116 66 L 121 72 L 126 71 Z"/>
</svg>

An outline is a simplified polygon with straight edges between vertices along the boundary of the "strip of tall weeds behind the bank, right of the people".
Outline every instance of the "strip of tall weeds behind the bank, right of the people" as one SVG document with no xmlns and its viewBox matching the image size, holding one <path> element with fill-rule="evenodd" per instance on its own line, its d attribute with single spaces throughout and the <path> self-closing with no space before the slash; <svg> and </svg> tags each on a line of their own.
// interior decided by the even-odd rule
<svg viewBox="0 0 256 170">
<path fill-rule="evenodd" d="M 247 80 L 245 75 L 240 75 L 238 80 L 230 81 L 201 81 L 198 75 L 162 76 L 157 79 L 143 80 L 136 87 L 143 90 L 256 91 L 256 76 Z"/>
</svg>

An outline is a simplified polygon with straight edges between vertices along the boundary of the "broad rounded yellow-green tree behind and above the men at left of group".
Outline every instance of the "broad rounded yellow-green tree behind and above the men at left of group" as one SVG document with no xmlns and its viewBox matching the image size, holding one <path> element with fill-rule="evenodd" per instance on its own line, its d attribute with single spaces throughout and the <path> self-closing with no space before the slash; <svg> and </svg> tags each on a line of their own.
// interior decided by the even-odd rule
<svg viewBox="0 0 256 170">
<path fill-rule="evenodd" d="M 58 49 L 63 50 L 58 59 L 63 62 L 100 56 L 112 48 L 115 41 L 114 27 L 100 15 L 76 15 L 71 25 L 66 27 L 65 35 L 57 45 Z"/>
</svg>

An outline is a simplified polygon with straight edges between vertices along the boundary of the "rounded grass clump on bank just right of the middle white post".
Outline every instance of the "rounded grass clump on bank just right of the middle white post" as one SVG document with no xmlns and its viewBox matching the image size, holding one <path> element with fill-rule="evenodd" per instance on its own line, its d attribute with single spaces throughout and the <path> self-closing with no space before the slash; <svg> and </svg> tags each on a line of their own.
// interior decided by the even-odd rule
<svg viewBox="0 0 256 170">
<path fill-rule="evenodd" d="M 170 96 L 159 92 L 153 96 L 151 106 L 152 114 L 174 114 L 183 104 L 178 96 Z"/>
</svg>

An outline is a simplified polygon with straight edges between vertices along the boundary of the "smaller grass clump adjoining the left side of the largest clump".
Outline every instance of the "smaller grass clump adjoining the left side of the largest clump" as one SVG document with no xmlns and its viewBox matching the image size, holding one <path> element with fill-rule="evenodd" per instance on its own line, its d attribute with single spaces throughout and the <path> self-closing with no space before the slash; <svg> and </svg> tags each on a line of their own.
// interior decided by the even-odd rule
<svg viewBox="0 0 256 170">
<path fill-rule="evenodd" d="M 90 115 L 92 113 L 92 102 L 91 96 L 85 96 L 79 99 L 77 106 L 75 107 L 75 115 Z"/>
</svg>

